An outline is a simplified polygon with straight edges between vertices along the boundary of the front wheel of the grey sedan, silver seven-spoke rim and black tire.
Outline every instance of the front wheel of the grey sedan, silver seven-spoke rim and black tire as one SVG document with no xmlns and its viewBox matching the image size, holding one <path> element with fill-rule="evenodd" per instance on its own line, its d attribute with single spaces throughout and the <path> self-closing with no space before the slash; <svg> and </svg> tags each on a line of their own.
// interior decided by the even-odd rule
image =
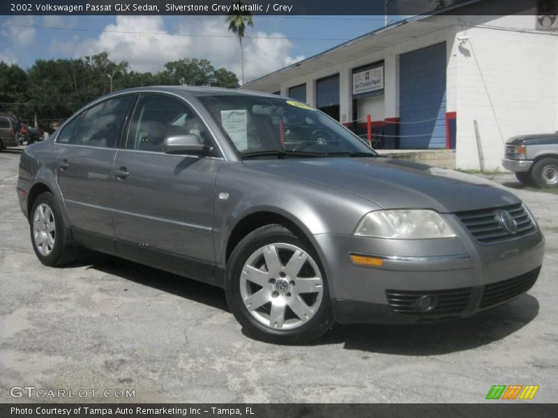
<svg viewBox="0 0 558 418">
<path fill-rule="evenodd" d="M 262 226 L 239 242 L 227 263 L 225 294 L 246 334 L 261 341 L 307 343 L 333 324 L 315 250 L 280 225 Z"/>
</svg>

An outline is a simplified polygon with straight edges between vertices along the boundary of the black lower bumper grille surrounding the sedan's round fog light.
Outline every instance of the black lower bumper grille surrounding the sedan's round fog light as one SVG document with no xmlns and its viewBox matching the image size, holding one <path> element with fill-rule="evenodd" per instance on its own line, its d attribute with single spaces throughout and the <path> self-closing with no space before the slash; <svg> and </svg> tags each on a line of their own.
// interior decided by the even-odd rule
<svg viewBox="0 0 558 418">
<path fill-rule="evenodd" d="M 395 291 L 387 290 L 388 302 L 395 312 L 416 316 L 451 316 L 462 314 L 471 297 L 472 288 L 444 291 Z M 427 309 L 419 307 L 419 299 L 428 296 L 432 304 Z"/>
</svg>

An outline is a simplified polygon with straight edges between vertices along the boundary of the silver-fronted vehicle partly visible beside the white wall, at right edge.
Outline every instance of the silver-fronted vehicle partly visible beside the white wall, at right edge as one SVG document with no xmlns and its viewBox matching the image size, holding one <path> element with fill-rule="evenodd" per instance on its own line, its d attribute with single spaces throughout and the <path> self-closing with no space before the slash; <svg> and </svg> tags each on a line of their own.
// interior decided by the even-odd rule
<svg viewBox="0 0 558 418">
<path fill-rule="evenodd" d="M 524 185 L 558 187 L 558 132 L 508 139 L 502 164 Z"/>
</svg>

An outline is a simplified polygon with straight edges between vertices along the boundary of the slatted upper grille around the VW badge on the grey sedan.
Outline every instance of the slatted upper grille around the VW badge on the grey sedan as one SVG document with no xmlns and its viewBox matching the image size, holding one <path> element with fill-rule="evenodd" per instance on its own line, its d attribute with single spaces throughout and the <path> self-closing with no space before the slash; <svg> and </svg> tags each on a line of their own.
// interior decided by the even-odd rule
<svg viewBox="0 0 558 418">
<path fill-rule="evenodd" d="M 511 233 L 504 228 L 499 219 L 500 212 L 505 210 L 515 220 L 518 226 L 516 233 Z M 502 208 L 491 208 L 481 210 L 469 210 L 457 212 L 455 215 L 467 227 L 469 232 L 478 242 L 483 244 L 499 244 L 500 242 L 515 240 L 536 230 L 531 216 L 521 203 Z"/>
</svg>

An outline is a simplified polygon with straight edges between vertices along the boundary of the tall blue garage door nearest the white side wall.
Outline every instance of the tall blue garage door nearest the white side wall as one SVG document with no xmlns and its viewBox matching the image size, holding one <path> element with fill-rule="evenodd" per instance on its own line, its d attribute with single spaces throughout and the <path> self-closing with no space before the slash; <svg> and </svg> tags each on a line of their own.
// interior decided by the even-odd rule
<svg viewBox="0 0 558 418">
<path fill-rule="evenodd" d="M 400 147 L 446 148 L 446 42 L 402 54 L 399 69 Z"/>
</svg>

